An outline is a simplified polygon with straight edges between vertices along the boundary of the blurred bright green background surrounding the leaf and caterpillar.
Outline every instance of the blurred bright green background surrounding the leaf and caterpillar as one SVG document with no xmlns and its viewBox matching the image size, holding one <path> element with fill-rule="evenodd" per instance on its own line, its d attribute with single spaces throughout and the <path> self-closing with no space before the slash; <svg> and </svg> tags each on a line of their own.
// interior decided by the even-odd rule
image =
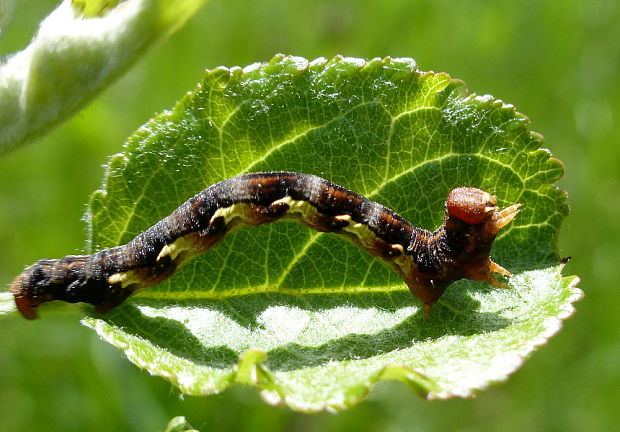
<svg viewBox="0 0 620 432">
<path fill-rule="evenodd" d="M 17 1 L 0 53 L 23 48 L 55 1 Z M 211 0 L 71 121 L 0 159 L 0 283 L 83 251 L 80 220 L 109 155 L 202 70 L 283 52 L 413 57 L 527 114 L 566 165 L 560 252 L 586 298 L 508 382 L 426 402 L 382 383 L 356 408 L 303 415 L 253 388 L 182 397 L 78 324 L 79 312 L 0 321 L 0 431 L 608 431 L 620 404 L 620 3 L 617 0 Z M 490 353 L 491 354 L 491 353 Z"/>
</svg>

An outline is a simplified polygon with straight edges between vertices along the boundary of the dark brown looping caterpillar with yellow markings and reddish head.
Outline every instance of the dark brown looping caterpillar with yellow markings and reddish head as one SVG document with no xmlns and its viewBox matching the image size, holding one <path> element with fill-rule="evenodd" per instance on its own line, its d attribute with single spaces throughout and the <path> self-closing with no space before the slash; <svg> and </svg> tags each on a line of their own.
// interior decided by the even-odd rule
<svg viewBox="0 0 620 432">
<path fill-rule="evenodd" d="M 443 224 L 431 232 L 315 175 L 243 174 L 209 186 L 125 245 L 37 261 L 15 278 L 10 291 L 27 319 L 36 319 L 36 308 L 53 300 L 89 303 L 106 313 L 168 278 L 238 228 L 295 220 L 345 236 L 391 267 L 422 302 L 428 319 L 433 304 L 456 280 L 508 288 L 493 273 L 510 272 L 489 254 L 519 206 L 499 210 L 491 194 L 459 187 L 448 195 Z"/>
</svg>

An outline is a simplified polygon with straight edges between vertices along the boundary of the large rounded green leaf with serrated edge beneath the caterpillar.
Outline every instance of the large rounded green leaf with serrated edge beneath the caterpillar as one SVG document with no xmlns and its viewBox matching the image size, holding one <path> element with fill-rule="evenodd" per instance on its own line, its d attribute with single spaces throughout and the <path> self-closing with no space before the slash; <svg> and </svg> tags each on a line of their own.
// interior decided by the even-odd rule
<svg viewBox="0 0 620 432">
<path fill-rule="evenodd" d="M 557 254 L 562 164 L 528 120 L 467 95 L 411 59 L 336 57 L 208 71 L 112 157 L 91 200 L 92 250 L 123 244 L 180 203 L 241 173 L 317 174 L 428 229 L 456 186 L 523 204 L 493 258 L 512 290 L 459 281 L 424 322 L 379 262 L 293 223 L 241 230 L 168 282 L 84 323 L 188 394 L 257 386 L 269 403 L 338 410 L 379 380 L 427 398 L 467 397 L 506 379 L 581 297 Z"/>
</svg>

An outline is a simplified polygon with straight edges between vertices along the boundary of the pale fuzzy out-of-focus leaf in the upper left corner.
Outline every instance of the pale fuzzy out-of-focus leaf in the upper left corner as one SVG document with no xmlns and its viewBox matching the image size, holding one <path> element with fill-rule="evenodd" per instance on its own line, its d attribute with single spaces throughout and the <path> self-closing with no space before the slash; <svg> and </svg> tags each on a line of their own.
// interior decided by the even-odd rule
<svg viewBox="0 0 620 432">
<path fill-rule="evenodd" d="M 26 49 L 0 62 L 0 154 L 82 108 L 204 2 L 62 2 Z"/>
</svg>

